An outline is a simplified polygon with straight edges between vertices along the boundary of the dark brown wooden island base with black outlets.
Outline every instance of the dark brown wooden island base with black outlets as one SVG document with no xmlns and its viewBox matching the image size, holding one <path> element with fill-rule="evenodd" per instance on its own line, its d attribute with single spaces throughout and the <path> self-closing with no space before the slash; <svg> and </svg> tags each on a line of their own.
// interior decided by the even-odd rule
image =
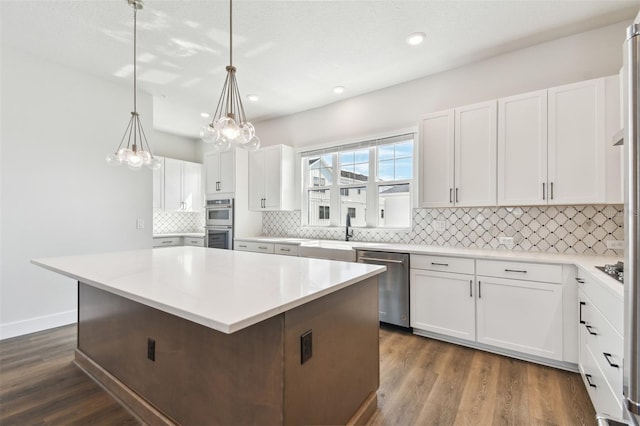
<svg viewBox="0 0 640 426">
<path fill-rule="evenodd" d="M 148 424 L 364 424 L 378 347 L 375 276 L 231 334 L 78 283 L 76 364 Z"/>
</svg>

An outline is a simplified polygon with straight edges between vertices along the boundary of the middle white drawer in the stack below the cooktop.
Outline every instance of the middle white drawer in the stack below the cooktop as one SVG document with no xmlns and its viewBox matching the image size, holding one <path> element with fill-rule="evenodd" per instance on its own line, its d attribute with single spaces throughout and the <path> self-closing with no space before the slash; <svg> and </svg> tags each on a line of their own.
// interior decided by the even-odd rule
<svg viewBox="0 0 640 426">
<path fill-rule="evenodd" d="M 602 370 L 611 389 L 622 395 L 622 335 L 605 319 L 602 312 L 584 292 L 579 292 L 580 327 L 584 328 L 584 342 Z"/>
</svg>

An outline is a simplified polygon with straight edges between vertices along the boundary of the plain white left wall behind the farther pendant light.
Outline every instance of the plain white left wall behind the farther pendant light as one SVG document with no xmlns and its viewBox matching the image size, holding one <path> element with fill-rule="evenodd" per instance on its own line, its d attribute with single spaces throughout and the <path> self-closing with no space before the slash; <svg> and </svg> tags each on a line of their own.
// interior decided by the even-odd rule
<svg viewBox="0 0 640 426">
<path fill-rule="evenodd" d="M 0 338 L 76 320 L 76 285 L 33 258 L 150 248 L 151 171 L 111 168 L 132 90 L 2 46 Z M 158 155 L 199 161 L 189 139 L 154 131 Z M 145 228 L 135 228 L 136 218 Z"/>
</svg>

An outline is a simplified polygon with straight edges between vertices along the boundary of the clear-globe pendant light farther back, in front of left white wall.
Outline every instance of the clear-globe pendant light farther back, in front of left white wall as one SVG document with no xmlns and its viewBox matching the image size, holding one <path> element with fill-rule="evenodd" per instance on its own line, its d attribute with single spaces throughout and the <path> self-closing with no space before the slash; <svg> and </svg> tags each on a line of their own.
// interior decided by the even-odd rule
<svg viewBox="0 0 640 426">
<path fill-rule="evenodd" d="M 137 109 L 137 58 L 136 58 L 136 33 L 137 33 L 137 13 L 138 9 L 142 9 L 144 3 L 142 0 L 126 0 L 129 6 L 133 8 L 133 112 L 131 119 L 124 131 L 120 145 L 113 154 L 107 156 L 107 164 L 110 166 L 119 166 L 126 163 L 131 170 L 140 170 L 142 166 L 147 166 L 151 170 L 158 170 L 162 167 L 162 163 L 153 157 L 147 136 L 140 123 L 140 115 Z M 123 146 L 125 140 L 126 147 Z M 145 150 L 146 148 L 146 150 Z"/>
</svg>

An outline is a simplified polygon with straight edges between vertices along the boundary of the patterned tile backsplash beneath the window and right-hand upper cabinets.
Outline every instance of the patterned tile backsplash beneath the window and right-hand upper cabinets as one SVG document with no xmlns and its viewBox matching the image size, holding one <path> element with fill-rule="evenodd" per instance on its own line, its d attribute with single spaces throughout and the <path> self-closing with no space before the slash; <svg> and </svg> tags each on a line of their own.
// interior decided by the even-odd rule
<svg viewBox="0 0 640 426">
<path fill-rule="evenodd" d="M 354 228 L 355 240 L 399 244 L 622 255 L 606 241 L 623 240 L 623 205 L 414 209 L 411 230 Z M 341 240 L 344 228 L 301 226 L 300 211 L 264 212 L 272 237 Z M 512 237 L 502 244 L 500 237 Z"/>
</svg>

